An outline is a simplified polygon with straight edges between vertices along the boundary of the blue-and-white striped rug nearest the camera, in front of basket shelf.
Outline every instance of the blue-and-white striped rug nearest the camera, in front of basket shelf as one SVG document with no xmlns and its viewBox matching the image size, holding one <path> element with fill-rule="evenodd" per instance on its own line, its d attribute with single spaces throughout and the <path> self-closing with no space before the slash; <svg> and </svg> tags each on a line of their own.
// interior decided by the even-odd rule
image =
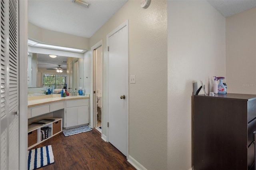
<svg viewBox="0 0 256 170">
<path fill-rule="evenodd" d="M 35 170 L 53 163 L 52 145 L 28 151 L 28 170 Z"/>
</svg>

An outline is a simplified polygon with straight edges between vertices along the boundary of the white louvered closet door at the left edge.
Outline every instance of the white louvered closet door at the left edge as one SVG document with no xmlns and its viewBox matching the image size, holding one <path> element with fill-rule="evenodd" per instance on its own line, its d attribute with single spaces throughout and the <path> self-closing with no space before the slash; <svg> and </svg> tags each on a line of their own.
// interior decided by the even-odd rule
<svg viewBox="0 0 256 170">
<path fill-rule="evenodd" d="M 0 169 L 19 169 L 18 0 L 1 1 Z"/>
</svg>

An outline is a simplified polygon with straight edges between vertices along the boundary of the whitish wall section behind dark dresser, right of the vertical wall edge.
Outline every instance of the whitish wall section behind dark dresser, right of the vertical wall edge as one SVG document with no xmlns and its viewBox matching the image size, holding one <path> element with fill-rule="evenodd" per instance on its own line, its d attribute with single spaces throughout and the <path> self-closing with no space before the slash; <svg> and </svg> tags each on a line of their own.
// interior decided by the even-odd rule
<svg viewBox="0 0 256 170">
<path fill-rule="evenodd" d="M 225 18 L 206 1 L 168 1 L 168 170 L 192 167 L 192 83 L 226 77 Z"/>
</svg>

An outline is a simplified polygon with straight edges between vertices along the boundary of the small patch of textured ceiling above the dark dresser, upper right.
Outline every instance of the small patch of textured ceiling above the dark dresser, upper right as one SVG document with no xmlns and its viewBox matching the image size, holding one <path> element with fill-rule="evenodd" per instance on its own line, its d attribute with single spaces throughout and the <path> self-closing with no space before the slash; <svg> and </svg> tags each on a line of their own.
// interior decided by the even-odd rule
<svg viewBox="0 0 256 170">
<path fill-rule="evenodd" d="M 256 0 L 208 0 L 208 2 L 224 17 L 256 7 Z"/>
</svg>

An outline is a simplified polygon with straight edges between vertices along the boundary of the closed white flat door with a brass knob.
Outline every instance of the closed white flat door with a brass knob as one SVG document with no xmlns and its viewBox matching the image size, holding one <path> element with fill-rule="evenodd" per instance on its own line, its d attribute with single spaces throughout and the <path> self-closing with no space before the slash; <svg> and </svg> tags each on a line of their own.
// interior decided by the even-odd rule
<svg viewBox="0 0 256 170">
<path fill-rule="evenodd" d="M 128 119 L 127 24 L 108 37 L 108 46 L 108 141 L 126 155 Z"/>
</svg>

